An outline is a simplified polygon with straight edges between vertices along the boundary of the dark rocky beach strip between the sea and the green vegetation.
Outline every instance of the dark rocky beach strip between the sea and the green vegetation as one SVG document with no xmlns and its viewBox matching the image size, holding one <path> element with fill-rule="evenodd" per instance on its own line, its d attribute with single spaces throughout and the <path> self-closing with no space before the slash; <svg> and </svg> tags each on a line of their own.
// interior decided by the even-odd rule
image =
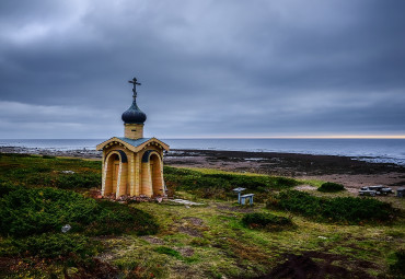
<svg viewBox="0 0 405 279">
<path fill-rule="evenodd" d="M 0 152 L 92 160 L 101 160 L 102 158 L 101 152 L 86 149 L 61 151 L 0 147 Z M 405 166 L 359 161 L 350 156 L 173 149 L 165 153 L 164 164 L 335 182 L 345 185 L 351 193 L 357 193 L 360 187 L 371 185 L 384 185 L 393 189 L 405 186 Z"/>
</svg>

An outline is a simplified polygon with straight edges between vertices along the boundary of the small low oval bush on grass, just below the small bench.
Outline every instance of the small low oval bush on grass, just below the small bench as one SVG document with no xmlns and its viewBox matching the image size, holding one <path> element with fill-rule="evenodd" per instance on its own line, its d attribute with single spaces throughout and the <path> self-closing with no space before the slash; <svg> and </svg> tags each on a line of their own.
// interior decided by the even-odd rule
<svg viewBox="0 0 405 279">
<path fill-rule="evenodd" d="M 270 213 L 247 213 L 243 217 L 242 223 L 251 229 L 282 230 L 292 226 L 289 218 Z"/>
</svg>

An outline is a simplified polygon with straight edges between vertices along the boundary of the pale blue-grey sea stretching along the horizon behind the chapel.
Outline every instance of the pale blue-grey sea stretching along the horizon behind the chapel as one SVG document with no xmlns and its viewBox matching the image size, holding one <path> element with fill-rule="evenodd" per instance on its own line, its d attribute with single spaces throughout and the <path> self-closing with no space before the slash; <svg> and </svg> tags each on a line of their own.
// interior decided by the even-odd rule
<svg viewBox="0 0 405 279">
<path fill-rule="evenodd" d="M 172 149 L 238 150 L 351 156 L 405 165 L 405 139 L 162 139 Z M 0 146 L 48 150 L 95 150 L 105 139 L 0 140 Z"/>
</svg>

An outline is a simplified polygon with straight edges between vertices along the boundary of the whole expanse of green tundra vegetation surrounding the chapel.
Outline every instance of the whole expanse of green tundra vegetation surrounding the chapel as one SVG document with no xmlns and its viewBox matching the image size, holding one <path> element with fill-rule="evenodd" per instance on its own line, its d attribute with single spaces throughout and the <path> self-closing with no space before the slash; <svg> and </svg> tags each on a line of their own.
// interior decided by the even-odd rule
<svg viewBox="0 0 405 279">
<path fill-rule="evenodd" d="M 0 154 L 0 277 L 404 276 L 395 197 L 298 191 L 321 183 L 204 168 L 165 166 L 164 177 L 170 196 L 202 206 L 94 199 L 100 161 Z M 235 187 L 255 194 L 254 206 L 238 205 Z"/>
</svg>

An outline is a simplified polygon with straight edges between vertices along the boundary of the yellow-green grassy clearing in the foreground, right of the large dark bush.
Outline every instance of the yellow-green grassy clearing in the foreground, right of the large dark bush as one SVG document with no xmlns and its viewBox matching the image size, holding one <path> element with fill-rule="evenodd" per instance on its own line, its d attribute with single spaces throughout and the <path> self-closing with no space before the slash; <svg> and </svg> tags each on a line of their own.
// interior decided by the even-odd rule
<svg viewBox="0 0 405 279">
<path fill-rule="evenodd" d="M 189 198 L 186 193 L 184 196 Z M 293 230 L 256 231 L 241 223 L 246 212 L 288 213 L 269 211 L 263 205 L 240 207 L 232 201 L 202 201 L 206 206 L 136 205 L 158 217 L 161 231 L 154 236 L 109 240 L 114 242 L 106 252 L 111 255 L 109 261 L 141 260 L 144 266 L 160 263 L 160 272 L 171 278 L 261 275 L 261 278 L 282 275 L 287 278 L 325 278 L 325 275 L 375 278 L 386 272 L 386 260 L 382 259 L 404 246 L 404 226 L 400 224 L 324 224 L 293 216 L 297 225 Z M 158 247 L 174 249 L 180 256 L 153 253 Z"/>
</svg>

